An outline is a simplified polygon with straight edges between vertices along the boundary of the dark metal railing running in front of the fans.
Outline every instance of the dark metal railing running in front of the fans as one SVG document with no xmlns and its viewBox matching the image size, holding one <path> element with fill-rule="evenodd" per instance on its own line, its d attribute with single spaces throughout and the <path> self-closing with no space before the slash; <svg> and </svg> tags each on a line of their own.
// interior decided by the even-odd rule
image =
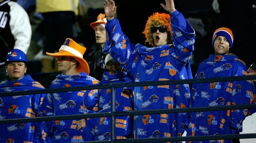
<svg viewBox="0 0 256 143">
<path fill-rule="evenodd" d="M 181 113 L 181 112 L 197 112 L 197 111 L 216 111 L 216 110 L 235 110 L 235 109 L 256 109 L 256 104 L 243 104 L 232 106 L 214 106 L 214 107 L 196 107 L 196 108 L 178 108 L 178 109 L 162 109 L 162 110 L 132 110 L 132 111 L 114 111 L 115 107 L 115 88 L 118 87 L 135 87 L 135 86 L 153 86 L 153 85 L 166 85 L 166 84 L 196 84 L 196 83 L 209 83 L 209 82 L 225 82 L 225 81 L 238 81 L 238 80 L 251 80 L 256 79 L 256 75 L 252 76 L 237 76 L 237 77 L 223 77 L 223 78 L 200 78 L 200 79 L 182 79 L 170 81 L 147 81 L 147 82 L 129 82 L 129 83 L 114 83 L 114 84 L 97 84 L 77 87 L 64 87 L 52 88 L 31 91 L 13 91 L 2 92 L 0 97 L 41 94 L 41 93 L 54 93 L 54 92 L 68 92 L 68 91 L 81 91 L 92 89 L 111 88 L 111 112 L 105 113 L 90 113 L 90 114 L 76 114 L 52 117 L 31 117 L 31 118 L 17 118 L 0 120 L 0 124 L 7 123 L 27 123 L 27 122 L 40 122 L 40 121 L 55 121 L 55 120 L 69 120 L 69 119 L 82 119 L 92 117 L 111 117 L 111 139 L 107 141 L 90 141 L 84 143 L 142 143 L 142 142 L 181 142 L 181 141 L 196 141 L 196 140 L 215 140 L 215 139 L 242 139 L 242 138 L 256 138 L 256 133 L 251 134 L 235 134 L 235 135 L 209 135 L 209 136 L 181 136 L 181 137 L 159 137 L 159 138 L 140 138 L 140 139 L 115 139 L 115 123 L 116 116 L 134 116 L 146 114 L 159 114 L 159 113 Z"/>
</svg>

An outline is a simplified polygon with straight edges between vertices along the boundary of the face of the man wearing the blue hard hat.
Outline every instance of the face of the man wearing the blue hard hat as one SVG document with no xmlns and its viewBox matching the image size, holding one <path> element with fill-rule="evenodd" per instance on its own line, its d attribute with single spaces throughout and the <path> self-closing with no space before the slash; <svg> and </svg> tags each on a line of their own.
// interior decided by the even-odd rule
<svg viewBox="0 0 256 143">
<path fill-rule="evenodd" d="M 27 66 L 23 62 L 13 62 L 6 66 L 6 72 L 10 81 L 16 81 L 24 77 L 27 72 Z"/>
</svg>

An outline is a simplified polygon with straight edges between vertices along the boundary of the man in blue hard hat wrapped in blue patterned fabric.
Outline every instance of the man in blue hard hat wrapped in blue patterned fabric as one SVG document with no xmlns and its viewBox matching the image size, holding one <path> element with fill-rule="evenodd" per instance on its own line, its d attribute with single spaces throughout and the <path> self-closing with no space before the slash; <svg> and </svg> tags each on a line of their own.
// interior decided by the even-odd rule
<svg viewBox="0 0 256 143">
<path fill-rule="evenodd" d="M 27 72 L 28 59 L 24 52 L 8 52 L 5 65 L 8 77 L 0 84 L 0 92 L 44 89 Z M 46 94 L 0 97 L 0 120 L 38 116 L 38 109 Z M 1 143 L 45 143 L 49 140 L 44 122 L 0 124 Z"/>
</svg>

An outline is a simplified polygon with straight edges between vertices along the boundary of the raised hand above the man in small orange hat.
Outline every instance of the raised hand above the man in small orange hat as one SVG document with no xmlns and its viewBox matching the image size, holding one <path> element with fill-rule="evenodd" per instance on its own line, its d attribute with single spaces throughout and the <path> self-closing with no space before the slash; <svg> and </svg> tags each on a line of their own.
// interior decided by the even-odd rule
<svg viewBox="0 0 256 143">
<path fill-rule="evenodd" d="M 113 20 L 116 13 L 116 6 L 113 0 L 106 0 L 104 2 L 104 10 L 107 20 Z"/>
</svg>

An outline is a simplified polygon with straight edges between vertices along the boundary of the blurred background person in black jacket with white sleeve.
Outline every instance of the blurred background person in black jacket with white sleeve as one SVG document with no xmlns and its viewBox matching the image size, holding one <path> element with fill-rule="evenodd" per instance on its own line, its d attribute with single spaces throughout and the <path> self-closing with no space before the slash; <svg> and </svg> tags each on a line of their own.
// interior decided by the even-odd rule
<svg viewBox="0 0 256 143">
<path fill-rule="evenodd" d="M 6 78 L 5 58 L 12 49 L 28 52 L 32 30 L 28 13 L 18 3 L 0 0 L 0 81 Z"/>
</svg>

